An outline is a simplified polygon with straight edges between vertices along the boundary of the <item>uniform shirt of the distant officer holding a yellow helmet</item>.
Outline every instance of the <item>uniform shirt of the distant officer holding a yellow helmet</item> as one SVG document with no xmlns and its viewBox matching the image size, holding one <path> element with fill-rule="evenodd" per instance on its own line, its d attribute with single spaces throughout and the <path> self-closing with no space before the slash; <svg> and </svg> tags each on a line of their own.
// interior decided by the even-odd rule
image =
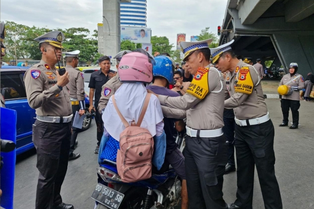
<svg viewBox="0 0 314 209">
<path fill-rule="evenodd" d="M 294 87 L 297 86 L 298 90 L 302 90 L 304 89 L 304 79 L 302 77 L 302 75 L 295 79 L 298 75 L 298 73 L 295 73 L 293 76 L 289 74 L 286 74 L 283 76 L 283 78 L 280 81 L 280 85 L 285 85 L 287 82 L 289 82 L 290 80 L 293 80 L 292 82 L 290 82 L 287 86 L 288 87 Z M 290 100 L 300 100 L 300 92 L 299 91 L 294 91 L 291 90 L 292 94 L 291 95 L 282 95 L 282 99 L 290 99 Z"/>
</svg>

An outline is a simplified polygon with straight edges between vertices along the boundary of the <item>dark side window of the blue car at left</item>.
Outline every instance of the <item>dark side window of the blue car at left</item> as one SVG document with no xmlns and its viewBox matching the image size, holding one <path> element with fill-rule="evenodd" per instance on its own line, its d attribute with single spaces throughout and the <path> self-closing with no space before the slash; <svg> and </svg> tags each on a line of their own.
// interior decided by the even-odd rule
<svg viewBox="0 0 314 209">
<path fill-rule="evenodd" d="M 5 100 L 26 98 L 22 73 L 1 74 L 1 94 Z"/>
</svg>

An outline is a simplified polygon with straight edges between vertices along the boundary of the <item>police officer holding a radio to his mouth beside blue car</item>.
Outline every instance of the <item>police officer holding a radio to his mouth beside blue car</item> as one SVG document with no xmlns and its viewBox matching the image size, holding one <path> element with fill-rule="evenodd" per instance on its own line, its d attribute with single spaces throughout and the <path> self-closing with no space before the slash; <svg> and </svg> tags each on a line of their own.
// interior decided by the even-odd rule
<svg viewBox="0 0 314 209">
<path fill-rule="evenodd" d="M 37 169 L 40 172 L 36 190 L 36 209 L 73 209 L 62 202 L 60 195 L 70 149 L 72 107 L 69 73 L 59 75 L 55 64 L 61 59 L 64 34 L 51 31 L 34 40 L 39 41 L 40 63 L 24 75 L 28 104 L 36 109 L 32 141 L 37 150 Z"/>
</svg>

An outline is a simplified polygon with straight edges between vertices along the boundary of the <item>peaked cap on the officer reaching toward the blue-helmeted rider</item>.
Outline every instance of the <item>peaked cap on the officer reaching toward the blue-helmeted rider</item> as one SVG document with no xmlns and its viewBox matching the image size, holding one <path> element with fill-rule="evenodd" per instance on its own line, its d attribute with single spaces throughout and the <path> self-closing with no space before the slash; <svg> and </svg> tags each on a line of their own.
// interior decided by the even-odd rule
<svg viewBox="0 0 314 209">
<path fill-rule="evenodd" d="M 196 42 L 187 42 L 181 41 L 181 51 L 184 54 L 183 62 L 186 61 L 186 58 L 190 56 L 193 52 L 199 49 L 209 49 L 209 45 L 212 43 L 213 39 L 201 40 Z"/>
</svg>

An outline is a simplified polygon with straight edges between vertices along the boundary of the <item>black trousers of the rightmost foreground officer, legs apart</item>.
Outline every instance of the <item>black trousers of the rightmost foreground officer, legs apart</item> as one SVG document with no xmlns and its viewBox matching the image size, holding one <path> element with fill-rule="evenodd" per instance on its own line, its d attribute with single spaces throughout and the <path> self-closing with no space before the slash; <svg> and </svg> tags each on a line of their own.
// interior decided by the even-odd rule
<svg viewBox="0 0 314 209">
<path fill-rule="evenodd" d="M 283 208 L 274 172 L 273 138 L 274 128 L 271 120 L 254 126 L 235 125 L 238 190 L 234 204 L 242 209 L 252 209 L 255 165 L 265 208 Z"/>
</svg>

